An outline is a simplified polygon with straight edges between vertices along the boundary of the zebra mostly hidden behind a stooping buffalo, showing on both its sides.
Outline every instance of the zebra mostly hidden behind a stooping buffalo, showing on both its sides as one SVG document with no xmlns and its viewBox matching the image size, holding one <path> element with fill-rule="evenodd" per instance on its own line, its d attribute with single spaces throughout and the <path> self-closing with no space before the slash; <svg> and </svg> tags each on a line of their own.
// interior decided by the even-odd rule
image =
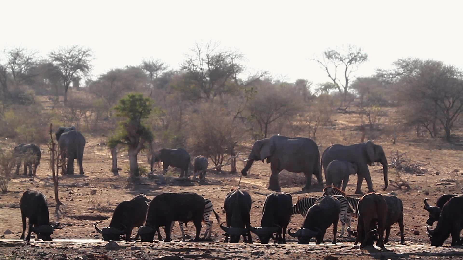
<svg viewBox="0 0 463 260">
<path fill-rule="evenodd" d="M 333 197 L 337 198 L 339 202 L 341 203 L 341 210 L 339 211 L 339 220 L 341 221 L 342 228 L 341 228 L 341 234 L 339 235 L 339 237 L 343 237 L 346 217 L 348 216 L 348 212 L 351 211 L 352 208 L 350 207 L 349 203 L 347 202 L 347 199 L 344 196 L 334 195 Z M 300 214 L 302 215 L 302 217 L 306 217 L 307 210 L 309 210 L 309 208 L 312 207 L 313 204 L 315 204 L 315 201 L 317 199 L 318 198 L 307 197 L 307 196 L 297 198 L 296 204 L 293 205 L 292 215 Z"/>
</svg>

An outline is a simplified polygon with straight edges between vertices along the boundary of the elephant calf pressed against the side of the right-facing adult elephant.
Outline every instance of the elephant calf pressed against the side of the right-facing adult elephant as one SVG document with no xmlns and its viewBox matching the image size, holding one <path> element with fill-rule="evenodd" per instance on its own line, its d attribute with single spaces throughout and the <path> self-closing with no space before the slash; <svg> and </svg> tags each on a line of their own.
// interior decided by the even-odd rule
<svg viewBox="0 0 463 260">
<path fill-rule="evenodd" d="M 349 182 L 349 175 L 355 175 L 357 173 L 357 164 L 349 161 L 334 160 L 328 164 L 325 171 L 326 186 L 341 188 L 341 182 L 343 182 L 342 191 L 346 190 L 347 183 Z"/>
</svg>

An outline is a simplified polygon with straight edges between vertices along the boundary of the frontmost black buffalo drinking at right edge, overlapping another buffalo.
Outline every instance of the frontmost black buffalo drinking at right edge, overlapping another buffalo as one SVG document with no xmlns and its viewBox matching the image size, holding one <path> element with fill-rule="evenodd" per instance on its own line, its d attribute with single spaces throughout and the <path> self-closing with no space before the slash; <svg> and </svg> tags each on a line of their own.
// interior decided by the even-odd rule
<svg viewBox="0 0 463 260">
<path fill-rule="evenodd" d="M 442 207 L 436 228 L 427 226 L 428 237 L 432 246 L 442 246 L 452 235 L 451 246 L 462 245 L 460 232 L 463 229 L 463 195 L 450 198 Z"/>
</svg>

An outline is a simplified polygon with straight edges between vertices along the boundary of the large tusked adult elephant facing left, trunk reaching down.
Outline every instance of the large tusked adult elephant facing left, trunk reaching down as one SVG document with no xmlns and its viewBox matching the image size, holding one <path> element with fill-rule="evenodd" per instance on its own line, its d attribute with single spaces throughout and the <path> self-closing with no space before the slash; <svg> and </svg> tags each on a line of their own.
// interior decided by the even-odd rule
<svg viewBox="0 0 463 260">
<path fill-rule="evenodd" d="M 304 173 L 306 185 L 302 190 L 310 188 L 312 174 L 322 184 L 320 153 L 318 146 L 312 139 L 304 137 L 286 137 L 275 135 L 270 138 L 257 140 L 252 146 L 246 166 L 241 173 L 246 176 L 254 161 L 267 159 L 270 163 L 272 175 L 270 175 L 269 190 L 280 191 L 278 173 L 287 170 L 293 173 Z"/>
</svg>

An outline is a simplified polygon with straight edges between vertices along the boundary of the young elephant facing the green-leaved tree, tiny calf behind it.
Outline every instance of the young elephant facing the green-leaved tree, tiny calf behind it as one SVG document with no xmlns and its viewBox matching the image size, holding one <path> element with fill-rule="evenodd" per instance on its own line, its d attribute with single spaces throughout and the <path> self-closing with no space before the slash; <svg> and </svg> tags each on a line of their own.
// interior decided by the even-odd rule
<svg viewBox="0 0 463 260">
<path fill-rule="evenodd" d="M 163 162 L 163 173 L 167 173 L 169 166 L 177 167 L 181 169 L 180 178 L 189 177 L 188 169 L 190 167 L 190 155 L 185 149 L 159 149 L 153 154 L 151 160 L 151 172 L 153 172 L 153 166 L 155 162 Z"/>
</svg>

